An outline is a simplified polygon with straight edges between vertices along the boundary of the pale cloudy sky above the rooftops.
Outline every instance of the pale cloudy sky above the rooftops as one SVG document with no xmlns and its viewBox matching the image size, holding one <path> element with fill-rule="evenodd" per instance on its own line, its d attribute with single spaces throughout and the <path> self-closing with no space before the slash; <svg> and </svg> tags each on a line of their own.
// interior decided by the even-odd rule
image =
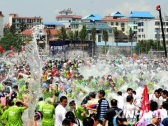
<svg viewBox="0 0 168 126">
<path fill-rule="evenodd" d="M 19 16 L 41 16 L 43 21 L 55 21 L 60 10 L 71 8 L 74 14 L 86 16 L 98 13 L 101 16 L 119 11 L 128 15 L 132 10 L 150 11 L 158 15 L 155 6 L 160 4 L 163 14 L 168 15 L 168 0 L 0 0 L 0 11 L 8 22 L 10 13 Z"/>
</svg>

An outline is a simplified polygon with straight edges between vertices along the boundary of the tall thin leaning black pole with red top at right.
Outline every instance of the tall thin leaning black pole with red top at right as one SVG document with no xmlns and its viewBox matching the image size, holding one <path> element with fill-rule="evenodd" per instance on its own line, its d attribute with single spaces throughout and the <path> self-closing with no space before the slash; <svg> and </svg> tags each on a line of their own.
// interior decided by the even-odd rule
<svg viewBox="0 0 168 126">
<path fill-rule="evenodd" d="M 165 35 L 164 35 L 164 30 L 163 30 L 163 21 L 162 21 L 162 13 L 161 13 L 160 5 L 156 6 L 156 10 L 159 11 L 159 17 L 160 17 L 160 23 L 161 23 L 161 29 L 162 29 L 163 47 L 165 51 L 165 57 L 167 58 L 167 49 L 166 49 L 166 42 L 165 42 Z"/>
</svg>

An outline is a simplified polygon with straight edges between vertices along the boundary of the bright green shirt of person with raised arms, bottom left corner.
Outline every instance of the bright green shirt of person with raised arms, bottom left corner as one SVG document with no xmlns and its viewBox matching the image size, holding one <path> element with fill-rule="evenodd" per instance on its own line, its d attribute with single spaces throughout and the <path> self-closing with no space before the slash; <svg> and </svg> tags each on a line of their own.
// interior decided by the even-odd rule
<svg viewBox="0 0 168 126">
<path fill-rule="evenodd" d="M 22 126 L 22 113 L 25 107 L 12 106 L 5 110 L 1 120 L 7 119 L 6 126 Z"/>
</svg>

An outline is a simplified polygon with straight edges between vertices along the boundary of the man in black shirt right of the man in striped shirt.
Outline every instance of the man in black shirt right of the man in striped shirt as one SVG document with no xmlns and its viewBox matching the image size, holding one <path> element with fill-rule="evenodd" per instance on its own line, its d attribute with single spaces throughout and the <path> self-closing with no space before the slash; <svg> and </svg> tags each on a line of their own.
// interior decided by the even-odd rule
<svg viewBox="0 0 168 126">
<path fill-rule="evenodd" d="M 122 118 L 123 111 L 122 111 L 122 109 L 117 107 L 117 100 L 116 99 L 111 100 L 111 106 L 112 107 L 107 111 L 107 113 L 104 116 L 103 126 L 106 125 L 107 120 L 108 120 L 108 126 L 114 126 L 114 124 L 113 124 L 114 117 L 117 116 L 119 118 Z"/>
</svg>

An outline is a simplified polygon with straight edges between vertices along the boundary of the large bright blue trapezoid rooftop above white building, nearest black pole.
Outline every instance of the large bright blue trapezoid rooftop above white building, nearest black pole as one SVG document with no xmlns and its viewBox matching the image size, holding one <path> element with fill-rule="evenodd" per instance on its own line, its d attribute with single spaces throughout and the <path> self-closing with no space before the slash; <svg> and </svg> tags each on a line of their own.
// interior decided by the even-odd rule
<svg viewBox="0 0 168 126">
<path fill-rule="evenodd" d="M 150 12 L 146 11 L 131 11 L 128 16 L 129 18 L 155 18 Z"/>
</svg>

